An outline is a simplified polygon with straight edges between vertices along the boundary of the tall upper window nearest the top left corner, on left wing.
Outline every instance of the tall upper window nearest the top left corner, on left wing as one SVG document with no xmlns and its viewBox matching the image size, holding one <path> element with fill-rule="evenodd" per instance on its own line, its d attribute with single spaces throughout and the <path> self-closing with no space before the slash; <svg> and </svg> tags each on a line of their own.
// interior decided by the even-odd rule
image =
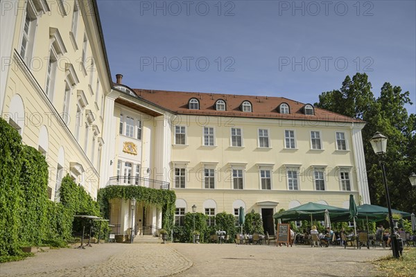
<svg viewBox="0 0 416 277">
<path fill-rule="evenodd" d="M 35 33 L 37 25 L 37 11 L 33 10 L 32 1 L 28 1 L 26 6 L 26 17 L 24 19 L 24 27 L 22 30 L 20 55 L 29 62 L 33 55 L 33 46 L 35 44 Z"/>
</svg>

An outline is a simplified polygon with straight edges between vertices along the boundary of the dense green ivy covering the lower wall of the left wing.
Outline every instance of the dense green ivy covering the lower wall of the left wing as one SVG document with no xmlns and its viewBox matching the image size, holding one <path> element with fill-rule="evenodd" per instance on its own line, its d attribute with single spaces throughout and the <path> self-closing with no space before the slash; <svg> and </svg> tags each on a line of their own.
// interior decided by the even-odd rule
<svg viewBox="0 0 416 277">
<path fill-rule="evenodd" d="M 17 131 L 0 118 L 0 262 L 27 256 L 20 247 L 64 247 L 83 224 L 74 215 L 101 216 L 98 203 L 69 175 L 62 179 L 61 203 L 48 199 L 48 181 L 44 156 L 22 145 Z M 101 226 L 107 233 L 108 224 Z"/>
</svg>

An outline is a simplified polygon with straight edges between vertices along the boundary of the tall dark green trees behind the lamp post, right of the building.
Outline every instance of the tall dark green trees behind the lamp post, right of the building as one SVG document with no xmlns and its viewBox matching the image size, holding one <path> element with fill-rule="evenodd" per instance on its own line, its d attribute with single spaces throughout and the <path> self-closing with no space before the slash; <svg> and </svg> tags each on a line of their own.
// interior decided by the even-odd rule
<svg viewBox="0 0 416 277">
<path fill-rule="evenodd" d="M 375 132 L 388 137 L 384 162 L 392 207 L 414 212 L 416 188 L 410 186 L 408 176 L 416 168 L 416 116 L 409 115 L 404 107 L 413 105 L 410 93 L 389 82 L 383 84 L 378 98 L 374 98 L 371 89 L 368 76 L 356 73 L 352 80 L 347 76 L 339 90 L 322 93 L 315 106 L 367 122 L 362 136 L 368 186 L 372 204 L 380 206 L 387 205 L 380 157 L 374 154 L 369 141 Z"/>
</svg>

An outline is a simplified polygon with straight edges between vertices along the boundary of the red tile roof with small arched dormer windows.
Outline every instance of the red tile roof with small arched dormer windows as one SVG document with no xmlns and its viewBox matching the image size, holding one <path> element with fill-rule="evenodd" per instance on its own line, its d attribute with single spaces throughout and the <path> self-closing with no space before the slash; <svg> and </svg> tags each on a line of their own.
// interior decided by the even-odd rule
<svg viewBox="0 0 416 277">
<path fill-rule="evenodd" d="M 313 107 L 315 114 L 305 115 L 305 103 L 297 102 L 283 97 L 245 96 L 223 93 L 200 93 L 185 91 L 159 91 L 150 89 L 133 89 L 139 98 L 153 102 L 164 109 L 176 114 L 191 114 L 204 116 L 235 116 L 247 118 L 279 118 L 297 120 L 318 120 L 336 122 L 364 123 L 363 120 L 350 118 L 324 109 Z M 200 109 L 189 109 L 191 98 L 196 98 L 200 103 Z M 216 111 L 217 100 L 224 100 L 226 111 Z M 252 112 L 241 111 L 241 103 L 248 100 L 252 103 Z M 280 114 L 279 105 L 286 103 L 290 114 Z"/>
</svg>

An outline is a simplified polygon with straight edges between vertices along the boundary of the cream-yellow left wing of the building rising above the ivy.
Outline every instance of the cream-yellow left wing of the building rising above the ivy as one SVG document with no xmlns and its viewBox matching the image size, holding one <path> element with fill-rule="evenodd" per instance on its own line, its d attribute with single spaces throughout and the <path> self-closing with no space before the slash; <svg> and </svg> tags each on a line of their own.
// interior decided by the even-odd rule
<svg viewBox="0 0 416 277">
<path fill-rule="evenodd" d="M 96 199 L 111 90 L 95 1 L 1 1 L 1 117 L 49 164 L 49 197 L 69 173 Z"/>
</svg>

